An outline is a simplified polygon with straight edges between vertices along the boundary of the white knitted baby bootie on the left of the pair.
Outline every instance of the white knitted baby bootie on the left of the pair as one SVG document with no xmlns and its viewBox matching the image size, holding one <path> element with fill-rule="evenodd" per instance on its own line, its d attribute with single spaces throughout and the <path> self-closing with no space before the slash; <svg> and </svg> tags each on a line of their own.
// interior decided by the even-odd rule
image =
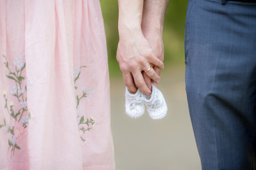
<svg viewBox="0 0 256 170">
<path fill-rule="evenodd" d="M 130 118 L 139 118 L 144 114 L 144 98 L 142 91 L 137 90 L 136 94 L 129 92 L 128 88 L 125 90 L 125 112 Z"/>
</svg>

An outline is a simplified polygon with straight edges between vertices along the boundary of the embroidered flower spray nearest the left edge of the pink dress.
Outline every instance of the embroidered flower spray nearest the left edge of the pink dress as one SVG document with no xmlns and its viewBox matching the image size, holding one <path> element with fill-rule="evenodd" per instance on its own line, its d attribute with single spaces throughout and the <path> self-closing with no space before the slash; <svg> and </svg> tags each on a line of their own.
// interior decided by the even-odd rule
<svg viewBox="0 0 256 170">
<path fill-rule="evenodd" d="M 6 60 L 6 57 L 4 55 L 3 57 Z M 8 151 L 11 152 L 12 158 L 12 156 L 14 156 L 15 150 L 21 149 L 21 147 L 18 146 L 16 139 L 18 136 L 23 135 L 28 126 L 28 120 L 29 118 L 31 118 L 31 113 L 27 113 L 28 108 L 25 91 L 27 91 L 27 86 L 29 89 L 29 86 L 31 86 L 33 83 L 32 81 L 28 81 L 27 79 L 27 86 L 23 85 L 23 80 L 25 79 L 25 77 L 23 77 L 22 72 L 26 67 L 23 56 L 15 58 L 15 61 L 13 63 L 15 69 L 13 70 L 9 67 L 9 62 L 7 60 L 6 62 L 4 62 L 4 64 L 7 69 L 6 77 L 10 81 L 14 81 L 15 84 L 11 88 L 11 94 L 14 96 L 15 100 L 9 102 L 9 98 L 6 97 L 7 92 L 3 91 L 5 101 L 4 108 L 6 109 L 6 113 L 9 114 L 11 125 L 10 123 L 6 123 L 6 119 L 4 118 L 4 123 L 0 122 L 0 128 L 5 127 L 4 133 L 11 135 L 8 140 Z M 18 103 L 20 103 L 21 105 L 18 105 Z M 18 108 L 18 106 L 20 106 L 20 108 Z"/>
</svg>

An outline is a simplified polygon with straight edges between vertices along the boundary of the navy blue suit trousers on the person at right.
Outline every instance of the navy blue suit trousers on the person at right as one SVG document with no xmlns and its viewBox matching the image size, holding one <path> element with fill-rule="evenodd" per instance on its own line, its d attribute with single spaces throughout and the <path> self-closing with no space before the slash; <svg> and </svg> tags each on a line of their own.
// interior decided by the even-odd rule
<svg viewBox="0 0 256 170">
<path fill-rule="evenodd" d="M 202 169 L 255 169 L 256 3 L 188 0 L 185 54 Z"/>
</svg>

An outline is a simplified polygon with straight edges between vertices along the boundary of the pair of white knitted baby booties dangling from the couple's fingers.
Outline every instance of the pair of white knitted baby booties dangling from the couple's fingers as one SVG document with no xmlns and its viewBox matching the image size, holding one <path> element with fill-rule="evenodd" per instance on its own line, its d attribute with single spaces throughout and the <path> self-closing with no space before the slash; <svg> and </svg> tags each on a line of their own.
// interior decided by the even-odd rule
<svg viewBox="0 0 256 170">
<path fill-rule="evenodd" d="M 126 88 L 125 90 L 125 112 L 130 118 L 139 118 L 146 111 L 154 120 L 160 120 L 167 114 L 167 105 L 164 96 L 159 89 L 152 84 L 151 96 L 145 96 L 142 91 L 137 90 L 136 94 L 132 94 Z"/>
</svg>

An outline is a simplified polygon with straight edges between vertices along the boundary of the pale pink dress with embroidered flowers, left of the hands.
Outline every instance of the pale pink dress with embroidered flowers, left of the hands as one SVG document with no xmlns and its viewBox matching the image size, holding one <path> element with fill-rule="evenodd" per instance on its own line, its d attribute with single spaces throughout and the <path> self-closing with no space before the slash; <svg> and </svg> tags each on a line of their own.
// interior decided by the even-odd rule
<svg viewBox="0 0 256 170">
<path fill-rule="evenodd" d="M 112 170 L 99 0 L 0 0 L 0 170 Z"/>
</svg>

